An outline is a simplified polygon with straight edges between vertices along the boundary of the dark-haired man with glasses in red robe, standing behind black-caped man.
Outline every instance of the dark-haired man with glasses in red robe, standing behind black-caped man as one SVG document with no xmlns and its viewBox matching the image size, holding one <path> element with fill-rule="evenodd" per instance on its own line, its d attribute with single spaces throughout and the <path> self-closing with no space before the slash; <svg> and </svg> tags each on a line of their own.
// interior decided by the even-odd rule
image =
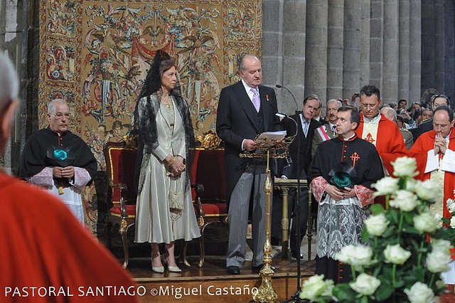
<svg viewBox="0 0 455 303">
<path fill-rule="evenodd" d="M 375 145 L 385 168 L 384 174 L 387 176 L 393 173 L 390 163 L 400 156 L 406 156 L 407 151 L 400 129 L 394 122 L 380 115 L 380 104 L 380 90 L 375 85 L 362 87 L 360 90 L 362 115 L 355 134 Z"/>
</svg>

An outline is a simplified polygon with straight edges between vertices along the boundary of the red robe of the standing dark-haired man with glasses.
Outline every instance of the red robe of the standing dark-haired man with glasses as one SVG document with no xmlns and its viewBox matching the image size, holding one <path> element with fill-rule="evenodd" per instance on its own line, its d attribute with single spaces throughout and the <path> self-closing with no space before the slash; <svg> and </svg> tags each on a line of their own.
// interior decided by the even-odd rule
<svg viewBox="0 0 455 303">
<path fill-rule="evenodd" d="M 368 141 L 367 138 L 362 137 L 363 123 L 363 115 L 360 115 L 360 125 L 355 129 L 355 134 L 357 134 L 359 138 Z M 378 150 L 378 154 L 381 157 L 385 168 L 392 176 L 393 167 L 390 162 L 395 161 L 395 159 L 400 158 L 400 156 L 407 156 L 406 145 L 405 142 L 403 142 L 400 129 L 398 129 L 394 122 L 381 115 L 378 126 L 378 136 L 376 139 L 376 150 Z"/>
</svg>

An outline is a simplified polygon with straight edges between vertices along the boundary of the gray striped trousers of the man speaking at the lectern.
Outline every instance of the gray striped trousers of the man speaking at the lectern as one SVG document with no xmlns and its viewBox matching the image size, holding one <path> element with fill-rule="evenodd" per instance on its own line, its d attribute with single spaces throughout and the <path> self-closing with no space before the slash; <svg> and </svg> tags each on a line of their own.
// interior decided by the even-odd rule
<svg viewBox="0 0 455 303">
<path fill-rule="evenodd" d="M 240 176 L 230 196 L 229 204 L 229 245 L 227 266 L 242 267 L 245 261 L 248 211 L 253 192 L 252 210 L 252 266 L 262 264 L 265 243 L 265 165 L 249 166 Z"/>
</svg>

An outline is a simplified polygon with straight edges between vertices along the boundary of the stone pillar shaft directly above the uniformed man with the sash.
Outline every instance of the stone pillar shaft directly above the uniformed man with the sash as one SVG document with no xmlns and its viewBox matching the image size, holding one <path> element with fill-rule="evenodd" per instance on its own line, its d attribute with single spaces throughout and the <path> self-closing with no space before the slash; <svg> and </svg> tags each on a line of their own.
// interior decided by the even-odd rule
<svg viewBox="0 0 455 303">
<path fill-rule="evenodd" d="M 343 18 L 343 0 L 328 0 L 326 101 L 343 97 Z"/>
</svg>

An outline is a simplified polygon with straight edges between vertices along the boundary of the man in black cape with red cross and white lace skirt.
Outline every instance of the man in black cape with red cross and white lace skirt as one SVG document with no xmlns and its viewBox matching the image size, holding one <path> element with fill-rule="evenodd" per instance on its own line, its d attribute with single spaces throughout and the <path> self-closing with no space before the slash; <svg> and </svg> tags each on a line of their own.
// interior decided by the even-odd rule
<svg viewBox="0 0 455 303">
<path fill-rule="evenodd" d="M 309 167 L 309 180 L 319 203 L 316 275 L 335 283 L 349 273 L 335 255 L 341 248 L 361 243 L 363 220 L 373 203 L 371 184 L 381 179 L 382 164 L 375 146 L 355 134 L 360 115 L 355 107 L 338 109 L 338 137 L 322 142 Z"/>
</svg>

